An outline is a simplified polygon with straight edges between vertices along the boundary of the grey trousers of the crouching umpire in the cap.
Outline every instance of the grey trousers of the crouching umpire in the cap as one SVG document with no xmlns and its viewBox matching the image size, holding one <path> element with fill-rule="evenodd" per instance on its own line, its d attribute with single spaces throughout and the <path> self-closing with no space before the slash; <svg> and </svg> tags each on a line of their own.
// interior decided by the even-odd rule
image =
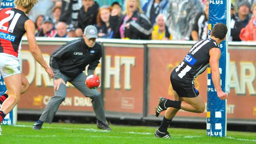
<svg viewBox="0 0 256 144">
<path fill-rule="evenodd" d="M 100 92 L 97 89 L 89 89 L 85 85 L 86 75 L 82 72 L 75 79 L 70 80 L 67 76 L 61 74 L 61 78 L 67 83 L 69 81 L 76 89 L 78 89 L 84 96 L 88 96 L 92 99 L 93 109 L 96 114 L 96 118 L 106 124 L 106 118 L 104 113 L 104 107 L 102 102 L 102 97 L 100 96 Z M 55 79 L 54 79 L 55 81 Z M 50 101 L 46 105 L 42 115 L 39 120 L 43 122 L 52 123 L 54 115 L 56 114 L 59 105 L 66 98 L 67 89 L 66 85 L 63 83 L 59 86 L 58 91 L 54 91 L 55 95 L 50 98 Z"/>
</svg>

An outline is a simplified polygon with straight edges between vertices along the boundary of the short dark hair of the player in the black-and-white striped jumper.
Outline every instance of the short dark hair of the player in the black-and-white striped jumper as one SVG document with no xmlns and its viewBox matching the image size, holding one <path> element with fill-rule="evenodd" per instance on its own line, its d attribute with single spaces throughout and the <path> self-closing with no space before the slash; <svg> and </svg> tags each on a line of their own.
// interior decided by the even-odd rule
<svg viewBox="0 0 256 144">
<path fill-rule="evenodd" d="M 211 36 L 216 37 L 218 39 L 224 39 L 226 37 L 228 28 L 223 23 L 217 23 L 213 26 L 213 29 L 211 31 Z"/>
</svg>

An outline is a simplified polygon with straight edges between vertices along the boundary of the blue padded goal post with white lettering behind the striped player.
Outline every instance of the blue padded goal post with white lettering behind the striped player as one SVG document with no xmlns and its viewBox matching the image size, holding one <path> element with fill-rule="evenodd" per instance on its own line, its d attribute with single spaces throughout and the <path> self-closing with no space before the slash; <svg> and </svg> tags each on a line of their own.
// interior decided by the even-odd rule
<svg viewBox="0 0 256 144">
<path fill-rule="evenodd" d="M 216 23 L 226 24 L 228 33 L 226 40 L 230 35 L 230 0 L 209 0 L 209 25 L 208 35 Z M 221 88 L 229 93 L 230 85 L 230 59 L 228 54 L 228 42 L 221 42 L 221 58 L 219 60 L 219 70 L 221 74 Z M 211 80 L 211 70 L 208 67 L 207 78 L 207 118 L 206 135 L 210 137 L 226 137 L 226 105 L 227 100 L 220 100 Z"/>
</svg>

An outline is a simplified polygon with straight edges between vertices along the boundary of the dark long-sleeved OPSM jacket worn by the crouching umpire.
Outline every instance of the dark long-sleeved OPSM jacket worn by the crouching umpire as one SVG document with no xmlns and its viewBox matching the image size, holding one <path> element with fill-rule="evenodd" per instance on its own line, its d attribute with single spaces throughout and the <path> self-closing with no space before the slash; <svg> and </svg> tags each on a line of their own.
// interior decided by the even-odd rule
<svg viewBox="0 0 256 144">
<path fill-rule="evenodd" d="M 88 75 L 93 74 L 100 57 L 102 57 L 102 47 L 95 43 L 89 48 L 83 38 L 67 42 L 50 57 L 50 67 L 54 71 L 54 78 L 59 79 L 60 74 L 68 76 L 70 79 L 76 78 L 88 67 Z"/>
</svg>

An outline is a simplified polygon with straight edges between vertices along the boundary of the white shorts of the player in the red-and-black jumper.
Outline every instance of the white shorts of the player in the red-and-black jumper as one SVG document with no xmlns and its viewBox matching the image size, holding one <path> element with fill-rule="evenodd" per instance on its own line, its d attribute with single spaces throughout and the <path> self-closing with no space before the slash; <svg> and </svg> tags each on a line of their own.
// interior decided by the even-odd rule
<svg viewBox="0 0 256 144">
<path fill-rule="evenodd" d="M 0 53 L 0 75 L 3 78 L 21 74 L 19 59 L 13 55 Z"/>
</svg>

